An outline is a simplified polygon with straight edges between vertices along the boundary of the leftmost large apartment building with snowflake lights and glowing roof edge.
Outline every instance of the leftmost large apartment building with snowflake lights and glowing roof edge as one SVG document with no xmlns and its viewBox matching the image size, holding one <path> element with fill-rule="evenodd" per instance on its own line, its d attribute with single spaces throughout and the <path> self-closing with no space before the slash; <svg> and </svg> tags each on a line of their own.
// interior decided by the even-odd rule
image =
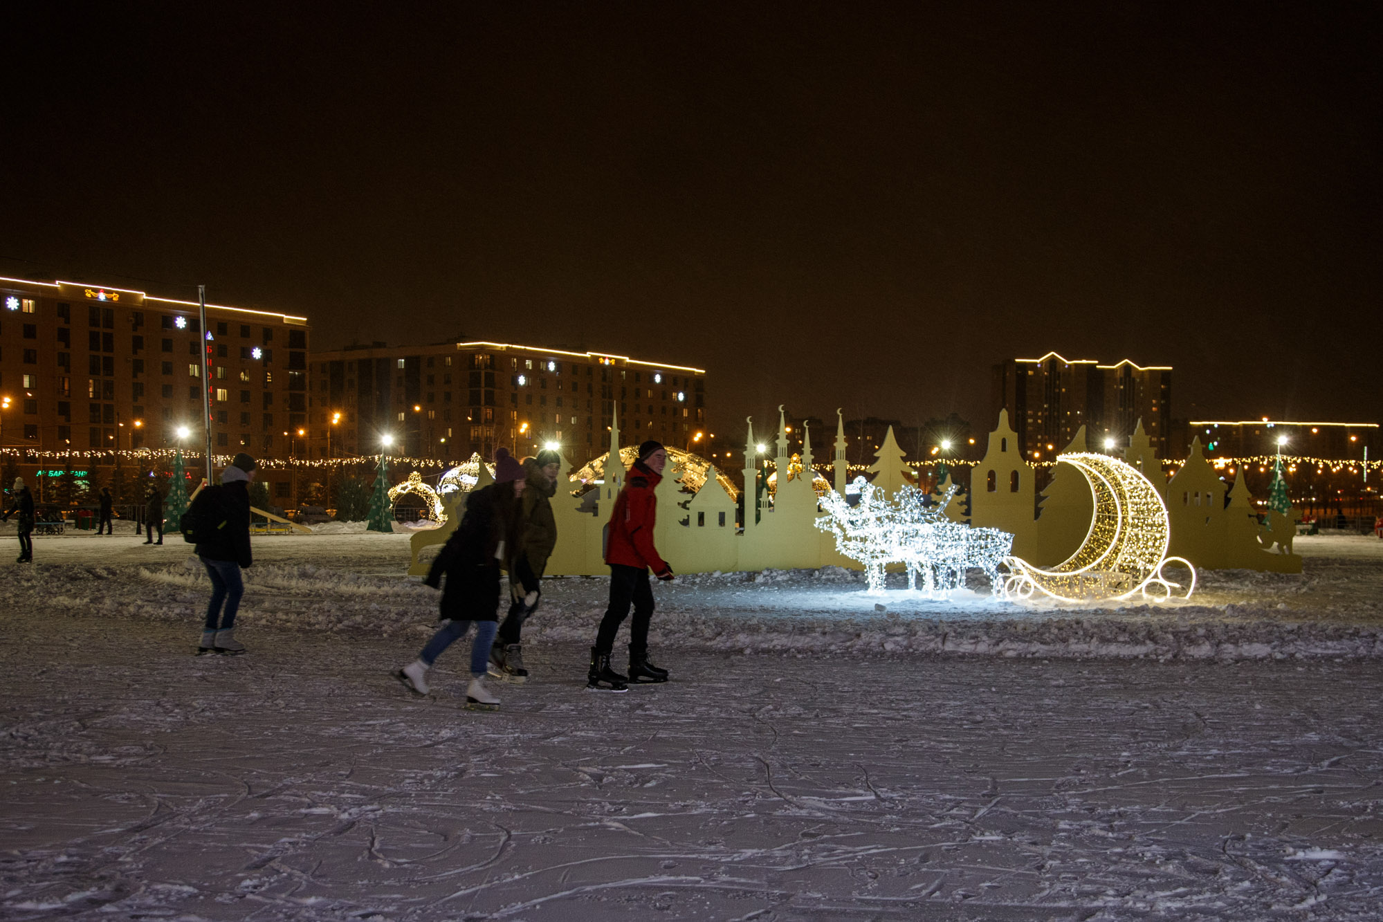
<svg viewBox="0 0 1383 922">
<path fill-rule="evenodd" d="M 0 446 L 213 449 L 286 456 L 307 422 L 307 319 L 82 282 L 0 278 Z M 210 350 L 202 380 L 201 350 Z M 3 406 L 3 401 L 0 401 Z"/>
</svg>

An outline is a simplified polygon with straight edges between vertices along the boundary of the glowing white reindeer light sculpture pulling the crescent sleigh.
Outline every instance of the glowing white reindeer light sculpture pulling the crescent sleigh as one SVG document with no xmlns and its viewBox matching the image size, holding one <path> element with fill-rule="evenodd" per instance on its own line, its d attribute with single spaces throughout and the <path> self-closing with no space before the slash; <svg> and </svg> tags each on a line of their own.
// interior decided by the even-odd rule
<svg viewBox="0 0 1383 922">
<path fill-rule="evenodd" d="M 999 564 L 1012 550 L 1014 536 L 997 528 L 971 528 L 946 518 L 946 505 L 956 493 L 952 485 L 940 502 L 929 503 L 916 487 L 902 487 L 889 502 L 882 491 L 863 477 L 853 484 L 859 503 L 851 506 L 831 491 L 822 498 L 826 516 L 816 527 L 835 535 L 835 547 L 851 560 L 864 564 L 869 592 L 884 592 L 884 571 L 889 564 L 903 564 L 907 587 L 946 593 L 965 585 L 965 571 L 982 570 L 990 590 L 999 593 L 1003 581 Z"/>
</svg>

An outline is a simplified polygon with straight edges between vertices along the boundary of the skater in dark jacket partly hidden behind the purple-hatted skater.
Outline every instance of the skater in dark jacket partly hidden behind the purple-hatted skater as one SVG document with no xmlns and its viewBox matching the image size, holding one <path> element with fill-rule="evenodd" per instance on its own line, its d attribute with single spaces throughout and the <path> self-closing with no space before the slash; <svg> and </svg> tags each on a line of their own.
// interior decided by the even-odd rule
<svg viewBox="0 0 1383 922">
<path fill-rule="evenodd" d="M 519 523 L 523 528 L 523 547 L 509 568 L 509 614 L 499 625 L 499 636 L 490 651 L 490 662 L 510 679 L 523 681 L 528 670 L 523 668 L 523 622 L 538 607 L 542 597 L 542 572 L 548 557 L 557 546 L 557 520 L 552 516 L 552 495 L 557 491 L 561 455 L 545 448 L 537 458 L 523 459 L 527 473 L 520 498 Z"/>
</svg>

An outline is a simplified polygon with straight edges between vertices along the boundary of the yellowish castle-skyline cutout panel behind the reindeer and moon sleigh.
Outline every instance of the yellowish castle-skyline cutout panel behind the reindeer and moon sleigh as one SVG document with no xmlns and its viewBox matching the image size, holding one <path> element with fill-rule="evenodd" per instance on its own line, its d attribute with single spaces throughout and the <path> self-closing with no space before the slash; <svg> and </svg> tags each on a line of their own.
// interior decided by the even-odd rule
<svg viewBox="0 0 1383 922">
<path fill-rule="evenodd" d="M 812 433 L 806 429 L 799 456 L 801 470 L 797 470 L 794 456 L 788 451 L 787 426 L 783 409 L 779 408 L 777 438 L 773 449 L 772 470 L 790 471 L 786 482 L 776 484 L 774 491 L 766 489 L 765 470 L 757 463 L 758 451 L 754 440 L 752 420 L 747 420 L 745 466 L 743 514 L 740 496 L 733 484 L 715 466 L 697 455 L 669 451 L 668 467 L 658 484 L 658 518 L 654 525 L 654 539 L 658 550 L 678 572 L 711 571 L 755 571 L 817 568 L 826 565 L 862 568 L 857 560 L 842 554 L 834 534 L 816 527 L 823 514 L 824 499 L 817 495 L 813 481 L 819 477 L 804 476 L 813 463 Z M 841 496 L 853 495 L 848 477 L 846 441 L 844 419 L 837 411 L 837 433 L 830 470 L 830 481 Z M 550 575 L 604 575 L 609 572 L 602 560 L 603 529 L 609 509 L 624 485 L 628 473 L 626 459 L 636 449 L 620 446 L 618 419 L 610 426 L 610 452 L 588 464 L 586 476 L 599 471 L 595 489 L 577 498 L 559 489 L 552 500 L 552 511 L 557 524 L 557 546 L 548 560 Z M 1068 455 L 1090 456 L 1084 430 L 1080 430 L 1068 446 Z M 1098 455 L 1097 458 L 1109 458 Z M 473 458 L 474 471 L 465 473 L 480 482 L 488 482 L 488 470 Z M 974 469 L 968 496 L 968 513 L 964 498 L 957 491 L 949 500 L 940 499 L 954 487 L 943 477 L 936 488 L 934 502 L 945 518 L 956 525 L 972 525 L 975 529 L 996 529 L 1012 535 L 1014 557 L 1023 561 L 1026 572 L 1037 589 L 1039 571 L 1064 575 L 1066 583 L 1079 582 L 1070 570 L 1061 571 L 1065 561 L 1072 560 L 1091 534 L 1091 523 L 1097 520 L 1097 496 L 1087 470 L 1097 469 L 1099 477 L 1115 477 L 1101 464 L 1087 460 L 1087 467 L 1075 463 L 1058 464 L 1052 481 L 1043 491 L 1039 505 L 1036 492 L 1036 470 L 1022 459 L 1018 449 L 1018 435 L 1010 427 L 1007 413 L 1000 413 L 999 424 L 989 437 L 983 460 Z M 1167 517 L 1166 554 L 1191 561 L 1199 570 L 1249 568 L 1275 572 L 1300 572 L 1301 558 L 1292 553 L 1272 553 L 1261 543 L 1261 529 L 1257 524 L 1247 492 L 1239 488 L 1239 481 L 1227 488 L 1214 469 L 1205 460 L 1199 444 L 1191 449 L 1187 463 L 1170 481 L 1162 477 L 1162 464 L 1152 453 L 1147 434 L 1140 423 L 1123 452 L 1123 466 L 1141 473 L 1153 492 L 1160 498 Z M 466 467 L 466 466 L 462 466 Z M 447 506 L 451 477 L 458 487 L 463 482 L 461 467 L 443 477 L 443 516 L 452 524 Z M 916 491 L 914 473 L 904 463 L 903 452 L 898 449 L 892 430 L 870 467 L 869 481 L 881 499 L 892 500 L 903 488 Z M 455 474 L 455 476 L 454 476 Z M 559 482 L 570 482 L 571 464 L 561 460 Z M 1126 478 L 1126 474 L 1117 474 Z M 1123 482 L 1120 480 L 1120 482 Z M 819 487 L 819 482 L 816 484 Z M 859 489 L 856 485 L 855 489 Z M 418 491 L 420 492 L 420 491 Z M 1225 498 L 1228 496 L 1228 502 Z M 743 523 L 737 520 L 743 518 Z M 452 524 L 452 527 L 455 527 Z M 445 525 L 444 525 L 445 528 Z M 411 572 L 425 572 L 418 561 L 418 552 L 431 543 L 445 540 L 445 532 L 436 531 L 414 535 L 414 561 Z M 1275 538 L 1274 538 L 1275 539 Z M 1272 539 L 1270 539 L 1271 542 Z M 1286 538 L 1290 540 L 1290 538 Z M 1289 547 L 1288 547 L 1289 550 Z M 904 561 L 898 561 L 906 568 Z M 1052 570 L 1057 568 L 1057 570 Z M 914 575 L 921 575 L 918 568 Z M 932 575 L 934 585 L 940 585 L 949 576 Z M 1044 578 L 1043 578 L 1044 579 Z M 1133 574 L 1130 572 L 1130 579 Z M 1153 586 L 1162 576 L 1133 579 L 1130 585 Z M 1116 581 L 1117 582 L 1117 581 Z M 1166 581 L 1171 582 L 1171 581 Z M 1141 589 L 1135 589 L 1140 592 Z M 1019 586 L 1014 586 L 1019 592 Z M 1124 587 L 1120 592 L 1127 592 Z"/>
</svg>

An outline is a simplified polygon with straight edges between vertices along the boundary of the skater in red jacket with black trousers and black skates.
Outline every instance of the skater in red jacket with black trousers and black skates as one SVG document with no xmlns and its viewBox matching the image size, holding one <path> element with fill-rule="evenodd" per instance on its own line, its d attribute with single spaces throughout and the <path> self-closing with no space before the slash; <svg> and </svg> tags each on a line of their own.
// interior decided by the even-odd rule
<svg viewBox="0 0 1383 922">
<path fill-rule="evenodd" d="M 672 581 L 672 567 L 653 546 L 653 523 L 658 500 L 653 491 L 662 480 L 668 452 L 660 442 L 649 440 L 639 445 L 639 460 L 614 500 L 610 523 L 606 525 L 606 563 L 610 564 L 610 607 L 600 619 L 596 646 L 591 648 L 588 687 L 609 687 L 624 691 L 632 681 L 667 681 L 668 670 L 649 662 L 649 621 L 653 618 L 653 589 L 649 568 L 664 582 Z M 610 651 L 620 625 L 633 604 L 629 623 L 629 675 L 621 676 L 610 668 Z"/>
</svg>

